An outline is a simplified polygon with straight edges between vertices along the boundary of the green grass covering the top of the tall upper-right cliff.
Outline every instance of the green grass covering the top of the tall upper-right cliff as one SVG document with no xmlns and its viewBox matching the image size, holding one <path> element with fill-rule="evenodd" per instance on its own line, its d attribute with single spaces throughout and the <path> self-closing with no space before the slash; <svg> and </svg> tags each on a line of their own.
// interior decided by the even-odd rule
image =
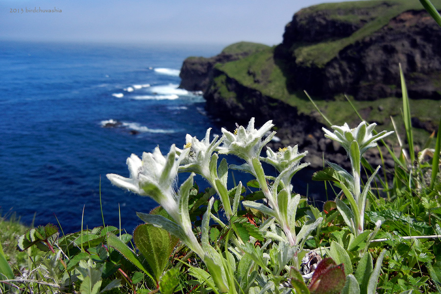
<svg viewBox="0 0 441 294">
<path fill-rule="evenodd" d="M 432 0 L 437 9 L 441 9 L 441 0 Z M 326 12 L 326 17 L 345 23 L 366 22 L 360 29 L 346 38 L 324 40 L 319 43 L 295 43 L 291 50 L 296 63 L 305 66 L 323 67 L 346 46 L 363 40 L 387 25 L 392 18 L 407 10 L 423 10 L 418 0 L 372 0 L 324 3 L 300 10 L 297 14 L 304 17 Z"/>
</svg>

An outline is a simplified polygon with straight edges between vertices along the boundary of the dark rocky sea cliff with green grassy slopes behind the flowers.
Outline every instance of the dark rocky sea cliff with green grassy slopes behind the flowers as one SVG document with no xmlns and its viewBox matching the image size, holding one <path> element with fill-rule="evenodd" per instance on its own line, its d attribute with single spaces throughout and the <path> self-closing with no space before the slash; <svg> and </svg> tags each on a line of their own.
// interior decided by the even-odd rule
<svg viewBox="0 0 441 294">
<path fill-rule="evenodd" d="M 441 1 L 434 1 L 437 8 Z M 208 112 L 222 120 L 273 120 L 279 142 L 310 152 L 312 166 L 344 162 L 343 150 L 323 137 L 326 125 L 305 90 L 333 124 L 360 118 L 400 125 L 399 64 L 412 98 L 417 140 L 436 130 L 441 99 L 441 28 L 417 0 L 327 3 L 302 9 L 286 25 L 283 42 L 238 43 L 212 58 L 184 61 L 181 87 L 201 90 Z M 400 129 L 399 129 L 400 130 Z M 368 154 L 372 164 L 379 156 Z M 392 165 L 392 162 L 387 163 Z"/>
</svg>

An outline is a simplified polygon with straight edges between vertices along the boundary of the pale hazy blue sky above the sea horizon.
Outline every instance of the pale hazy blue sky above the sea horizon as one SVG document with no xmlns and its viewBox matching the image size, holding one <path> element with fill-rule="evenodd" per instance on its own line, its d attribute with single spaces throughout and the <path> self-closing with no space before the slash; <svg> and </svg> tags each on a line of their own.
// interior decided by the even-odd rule
<svg viewBox="0 0 441 294">
<path fill-rule="evenodd" d="M 276 45 L 295 12 L 340 1 L 0 0 L 0 40 Z"/>
</svg>

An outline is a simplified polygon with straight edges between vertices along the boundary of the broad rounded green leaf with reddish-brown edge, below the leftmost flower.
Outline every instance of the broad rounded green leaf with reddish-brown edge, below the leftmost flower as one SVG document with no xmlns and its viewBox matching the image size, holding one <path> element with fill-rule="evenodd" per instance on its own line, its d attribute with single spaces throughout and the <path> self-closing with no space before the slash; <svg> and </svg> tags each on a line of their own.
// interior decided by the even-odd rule
<svg viewBox="0 0 441 294">
<path fill-rule="evenodd" d="M 139 225 L 133 232 L 133 239 L 158 282 L 176 243 L 172 244 L 169 232 L 152 224 Z"/>
</svg>

